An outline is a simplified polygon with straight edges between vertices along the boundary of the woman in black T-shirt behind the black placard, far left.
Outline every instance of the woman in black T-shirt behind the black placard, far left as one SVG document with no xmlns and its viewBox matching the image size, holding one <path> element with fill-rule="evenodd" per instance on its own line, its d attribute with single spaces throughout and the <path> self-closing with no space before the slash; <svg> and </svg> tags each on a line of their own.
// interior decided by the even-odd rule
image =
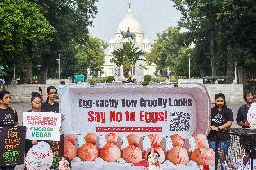
<svg viewBox="0 0 256 170">
<path fill-rule="evenodd" d="M 6 90 L 0 91 L 0 127 L 14 127 L 18 125 L 18 114 L 14 108 L 9 107 L 11 94 Z M 14 170 L 14 166 L 2 166 L 2 170 Z"/>
</svg>

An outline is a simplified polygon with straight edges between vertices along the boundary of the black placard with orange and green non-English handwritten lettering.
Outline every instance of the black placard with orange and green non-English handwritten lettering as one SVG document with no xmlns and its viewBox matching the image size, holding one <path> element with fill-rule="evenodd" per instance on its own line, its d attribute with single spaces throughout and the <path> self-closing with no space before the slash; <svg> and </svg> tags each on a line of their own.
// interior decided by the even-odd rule
<svg viewBox="0 0 256 170">
<path fill-rule="evenodd" d="M 24 163 L 26 127 L 0 127 L 0 166 Z"/>
</svg>

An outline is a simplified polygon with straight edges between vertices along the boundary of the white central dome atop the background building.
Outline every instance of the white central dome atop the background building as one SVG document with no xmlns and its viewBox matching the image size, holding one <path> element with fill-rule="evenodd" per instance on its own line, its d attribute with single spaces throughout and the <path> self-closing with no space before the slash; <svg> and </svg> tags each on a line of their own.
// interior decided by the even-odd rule
<svg viewBox="0 0 256 170">
<path fill-rule="evenodd" d="M 127 31 L 128 28 L 131 32 L 142 30 L 140 23 L 133 18 L 130 8 L 128 9 L 126 17 L 119 23 L 117 31 Z"/>
</svg>

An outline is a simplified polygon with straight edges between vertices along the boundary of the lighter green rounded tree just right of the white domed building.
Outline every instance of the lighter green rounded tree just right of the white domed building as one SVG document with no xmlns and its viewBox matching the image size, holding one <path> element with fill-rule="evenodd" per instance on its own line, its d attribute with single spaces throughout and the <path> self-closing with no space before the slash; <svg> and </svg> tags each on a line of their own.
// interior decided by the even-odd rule
<svg viewBox="0 0 256 170">
<path fill-rule="evenodd" d="M 149 62 L 156 64 L 160 76 L 167 76 L 168 70 L 172 76 L 187 76 L 189 39 L 186 33 L 180 33 L 180 29 L 169 27 L 158 34 L 152 45 L 151 52 L 146 55 Z"/>
</svg>

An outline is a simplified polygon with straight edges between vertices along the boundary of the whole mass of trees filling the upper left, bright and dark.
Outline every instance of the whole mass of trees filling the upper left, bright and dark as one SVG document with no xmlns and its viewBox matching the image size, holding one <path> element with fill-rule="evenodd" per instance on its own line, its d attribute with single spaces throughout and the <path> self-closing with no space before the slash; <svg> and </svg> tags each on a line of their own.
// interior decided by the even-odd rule
<svg viewBox="0 0 256 170">
<path fill-rule="evenodd" d="M 33 72 L 38 75 L 39 71 L 41 82 L 57 77 L 59 57 L 61 66 L 75 66 L 75 46 L 94 43 L 89 40 L 88 27 L 97 13 L 95 3 L 96 0 L 1 1 L 0 63 L 10 65 L 13 72 L 16 67 L 17 76 L 25 82 L 31 82 Z M 62 78 L 72 76 L 69 68 L 61 67 Z"/>
</svg>

